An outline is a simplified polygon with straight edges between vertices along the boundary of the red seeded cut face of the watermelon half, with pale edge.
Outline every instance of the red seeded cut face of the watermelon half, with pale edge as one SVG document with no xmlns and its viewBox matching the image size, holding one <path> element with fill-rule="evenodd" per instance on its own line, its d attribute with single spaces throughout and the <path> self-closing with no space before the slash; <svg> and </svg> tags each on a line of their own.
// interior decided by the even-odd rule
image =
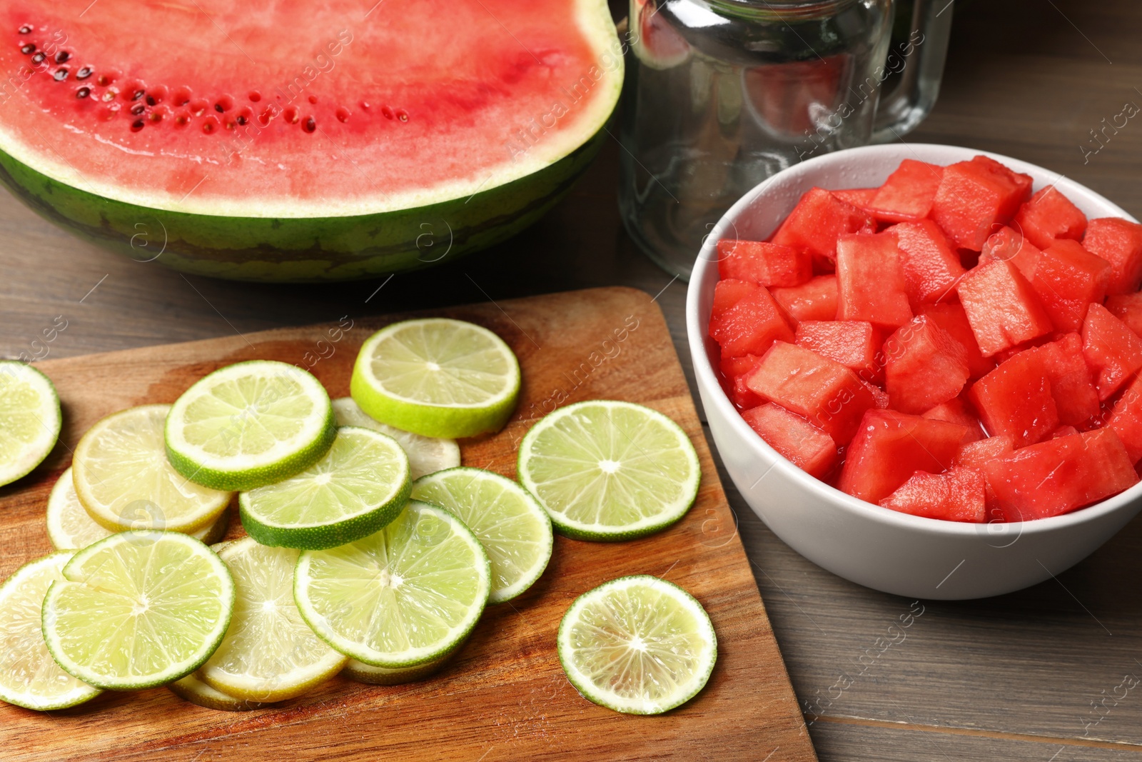
<svg viewBox="0 0 1142 762">
<path fill-rule="evenodd" d="M 596 131 L 612 101 L 597 96 L 618 89 L 621 66 L 585 3 L 370 6 L 11 0 L 0 69 L 35 69 L 6 98 L 5 144 L 38 146 L 58 165 L 50 175 L 145 207 L 372 214 L 549 165 Z M 22 53 L 53 40 L 42 64 Z"/>
</svg>

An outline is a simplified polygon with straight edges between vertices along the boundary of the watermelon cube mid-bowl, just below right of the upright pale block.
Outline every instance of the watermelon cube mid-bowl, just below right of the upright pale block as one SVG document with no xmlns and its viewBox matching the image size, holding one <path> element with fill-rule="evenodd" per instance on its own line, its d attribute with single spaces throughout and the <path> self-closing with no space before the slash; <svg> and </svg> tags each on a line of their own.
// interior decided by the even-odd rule
<svg viewBox="0 0 1142 762">
<path fill-rule="evenodd" d="M 884 388 L 892 407 L 922 414 L 959 394 L 967 382 L 967 355 L 935 321 L 915 318 L 884 343 Z"/>
</svg>

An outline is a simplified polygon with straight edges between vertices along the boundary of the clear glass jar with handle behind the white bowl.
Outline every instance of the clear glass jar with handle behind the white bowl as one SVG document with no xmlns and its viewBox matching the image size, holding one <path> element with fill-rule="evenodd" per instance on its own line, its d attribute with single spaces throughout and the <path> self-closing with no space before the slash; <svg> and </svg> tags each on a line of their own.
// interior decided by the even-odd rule
<svg viewBox="0 0 1142 762">
<path fill-rule="evenodd" d="M 630 0 L 627 231 L 689 279 L 746 191 L 915 128 L 935 103 L 950 24 L 951 0 Z"/>
</svg>

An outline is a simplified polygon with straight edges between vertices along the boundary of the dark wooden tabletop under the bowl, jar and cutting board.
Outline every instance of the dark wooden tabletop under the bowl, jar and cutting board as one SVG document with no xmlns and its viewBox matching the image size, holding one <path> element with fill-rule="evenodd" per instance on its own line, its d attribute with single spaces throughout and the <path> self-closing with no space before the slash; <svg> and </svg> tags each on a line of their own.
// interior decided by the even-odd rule
<svg viewBox="0 0 1142 762">
<path fill-rule="evenodd" d="M 1126 103 L 1142 104 L 1142 6 L 960 0 L 955 13 L 940 102 L 906 139 L 1018 157 L 1142 217 L 1142 121 L 1092 137 Z M 0 355 L 32 354 L 57 316 L 66 328 L 47 345 L 51 358 L 626 284 L 659 295 L 689 374 L 685 284 L 622 232 L 618 152 L 611 143 L 569 199 L 494 251 L 332 286 L 183 276 L 82 243 L 0 195 Z M 802 559 L 725 487 L 821 760 L 1142 760 L 1142 516 L 1056 580 L 922 602 L 907 640 L 866 668 L 858 657 L 911 601 Z M 842 675 L 854 679 L 845 690 Z"/>
</svg>

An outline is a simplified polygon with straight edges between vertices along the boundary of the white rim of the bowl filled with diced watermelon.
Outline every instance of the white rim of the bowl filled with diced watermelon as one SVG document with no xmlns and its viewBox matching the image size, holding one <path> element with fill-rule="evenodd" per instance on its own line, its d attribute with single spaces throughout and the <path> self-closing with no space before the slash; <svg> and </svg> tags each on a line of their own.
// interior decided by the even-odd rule
<svg viewBox="0 0 1142 762">
<path fill-rule="evenodd" d="M 836 510 L 858 519 L 871 520 L 874 522 L 890 524 L 899 529 L 910 529 L 924 535 L 979 537 L 988 534 L 987 531 L 981 532 L 981 527 L 1018 527 L 1019 536 L 1022 536 L 1026 532 L 1043 534 L 1067 529 L 1077 524 L 1096 521 L 1097 519 L 1125 508 L 1135 499 L 1142 497 L 1142 481 L 1135 483 L 1133 487 L 1119 492 L 1118 495 L 1113 495 L 1093 505 L 1077 508 L 1057 516 L 1048 516 L 1046 519 L 1029 519 L 1027 521 L 1016 522 L 968 523 L 901 513 L 872 503 L 866 503 L 860 498 L 842 492 L 831 484 L 805 473 L 770 447 L 765 440 L 758 436 L 757 433 L 754 432 L 754 430 L 750 428 L 746 420 L 741 417 L 741 414 L 730 401 L 730 398 L 726 396 L 725 391 L 722 388 L 722 384 L 717 379 L 717 374 L 710 363 L 709 355 L 707 354 L 706 328 L 709 322 L 709 315 L 700 314 L 699 308 L 701 291 L 706 288 L 713 288 L 713 283 L 716 283 L 718 280 L 717 256 L 715 250 L 717 241 L 721 238 L 721 231 L 733 227 L 734 220 L 737 220 L 743 211 L 763 199 L 766 189 L 778 178 L 786 179 L 790 176 L 802 175 L 823 166 L 837 163 L 843 165 L 858 157 L 861 158 L 861 160 L 866 160 L 869 157 L 876 158 L 877 155 L 883 154 L 885 159 L 899 161 L 900 152 L 902 150 L 910 152 L 912 154 L 911 158 L 918 161 L 947 161 L 946 154 L 948 153 L 956 153 L 962 157 L 959 159 L 954 159 L 954 161 L 967 160 L 975 155 L 990 157 L 991 159 L 1000 161 L 1016 171 L 1031 175 L 1035 178 L 1036 186 L 1040 185 L 1040 178 L 1054 178 L 1048 179 L 1047 184 L 1053 184 L 1067 194 L 1068 198 L 1072 198 L 1072 194 L 1080 195 L 1085 196 L 1084 200 L 1089 203 L 1103 206 L 1105 214 L 1100 214 L 1099 216 L 1117 216 L 1129 219 L 1131 222 L 1137 222 L 1137 219 L 1126 212 L 1126 210 L 1102 194 L 1092 191 L 1087 186 L 1077 183 L 1064 175 L 1037 165 L 1032 165 L 1021 159 L 1006 157 L 990 151 L 970 149 L 966 146 L 940 143 L 907 143 L 903 145 L 893 143 L 885 145 L 869 145 L 822 154 L 820 157 L 814 157 L 793 165 L 791 167 L 775 173 L 771 177 L 754 186 L 732 207 L 730 207 L 730 209 L 726 210 L 726 212 L 718 219 L 717 224 L 714 225 L 711 233 L 702 241 L 702 247 L 697 259 L 694 260 L 690 284 L 686 289 L 686 338 L 690 345 L 690 354 L 699 391 L 709 392 L 709 394 L 702 395 L 703 407 L 713 404 L 717 409 L 718 415 L 729 420 L 730 428 L 740 440 L 742 440 L 742 442 L 746 443 L 747 447 L 749 447 L 757 455 L 766 456 L 765 459 L 772 460 L 772 465 L 770 466 L 771 471 L 779 470 L 788 480 L 791 480 L 795 484 L 807 490 L 822 503 L 826 503 Z M 932 158 L 933 153 L 940 153 L 942 155 L 939 160 L 936 160 Z M 927 155 L 927 159 L 925 159 L 925 155 Z M 807 190 L 809 187 L 805 187 L 801 192 L 804 193 Z M 707 414 L 707 417 L 708 415 L 709 414 Z M 769 471 L 765 472 L 765 474 L 767 473 Z M 765 474 L 763 474 L 763 478 Z M 995 536 L 1002 535 L 999 532 L 995 532 Z"/>
</svg>

